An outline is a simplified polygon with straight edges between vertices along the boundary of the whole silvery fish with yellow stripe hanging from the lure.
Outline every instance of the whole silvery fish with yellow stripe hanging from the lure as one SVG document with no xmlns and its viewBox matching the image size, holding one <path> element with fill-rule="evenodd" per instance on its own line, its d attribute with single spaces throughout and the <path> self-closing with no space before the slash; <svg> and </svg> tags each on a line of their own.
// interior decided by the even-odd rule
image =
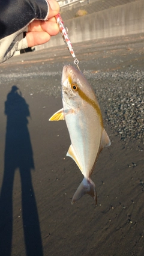
<svg viewBox="0 0 144 256">
<path fill-rule="evenodd" d="M 71 141 L 67 156 L 76 162 L 84 176 L 71 204 L 89 194 L 97 205 L 97 192 L 91 175 L 101 150 L 110 145 L 100 105 L 94 89 L 75 67 L 63 67 L 61 84 L 63 108 L 53 114 L 49 121 L 65 120 Z"/>
</svg>

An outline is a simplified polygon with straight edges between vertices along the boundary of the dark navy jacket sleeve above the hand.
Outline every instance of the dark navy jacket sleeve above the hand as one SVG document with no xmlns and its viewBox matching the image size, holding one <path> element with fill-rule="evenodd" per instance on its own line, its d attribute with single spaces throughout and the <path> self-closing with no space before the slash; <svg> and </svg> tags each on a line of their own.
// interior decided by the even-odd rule
<svg viewBox="0 0 144 256">
<path fill-rule="evenodd" d="M 0 40 L 33 19 L 46 20 L 48 11 L 46 0 L 0 0 Z"/>
</svg>

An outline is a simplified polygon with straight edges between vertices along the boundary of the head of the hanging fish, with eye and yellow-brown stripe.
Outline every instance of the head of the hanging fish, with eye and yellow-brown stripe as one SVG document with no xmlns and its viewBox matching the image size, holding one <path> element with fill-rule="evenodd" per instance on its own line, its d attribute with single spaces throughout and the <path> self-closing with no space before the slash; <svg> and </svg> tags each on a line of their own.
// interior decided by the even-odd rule
<svg viewBox="0 0 144 256">
<path fill-rule="evenodd" d="M 72 108 L 85 105 L 88 97 L 95 100 L 95 93 L 82 72 L 65 65 L 62 71 L 62 100 Z"/>
</svg>

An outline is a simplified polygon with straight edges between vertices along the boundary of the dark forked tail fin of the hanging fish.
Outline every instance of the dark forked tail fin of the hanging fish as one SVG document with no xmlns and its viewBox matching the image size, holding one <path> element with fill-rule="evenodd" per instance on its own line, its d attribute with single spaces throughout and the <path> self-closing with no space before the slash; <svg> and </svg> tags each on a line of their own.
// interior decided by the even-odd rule
<svg viewBox="0 0 144 256">
<path fill-rule="evenodd" d="M 71 204 L 74 204 L 85 194 L 91 195 L 91 197 L 93 197 L 95 200 L 95 204 L 97 205 L 97 192 L 95 190 L 95 184 L 91 179 L 87 180 L 86 178 L 83 178 L 82 182 L 74 193 Z"/>
</svg>

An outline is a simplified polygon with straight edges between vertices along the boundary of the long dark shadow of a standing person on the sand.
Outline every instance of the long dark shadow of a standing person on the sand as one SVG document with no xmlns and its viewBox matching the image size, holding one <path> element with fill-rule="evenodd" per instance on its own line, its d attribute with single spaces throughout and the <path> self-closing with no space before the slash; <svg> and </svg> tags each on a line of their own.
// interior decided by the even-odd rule
<svg viewBox="0 0 144 256">
<path fill-rule="evenodd" d="M 7 130 L 4 177 L 0 195 L 0 255 L 11 255 L 14 172 L 19 168 L 26 255 L 42 256 L 40 224 L 31 177 L 31 169 L 34 169 L 34 159 L 27 119 L 27 117 L 30 117 L 30 112 L 28 104 L 16 85 L 13 85 L 7 95 L 5 115 L 7 115 Z"/>
</svg>

